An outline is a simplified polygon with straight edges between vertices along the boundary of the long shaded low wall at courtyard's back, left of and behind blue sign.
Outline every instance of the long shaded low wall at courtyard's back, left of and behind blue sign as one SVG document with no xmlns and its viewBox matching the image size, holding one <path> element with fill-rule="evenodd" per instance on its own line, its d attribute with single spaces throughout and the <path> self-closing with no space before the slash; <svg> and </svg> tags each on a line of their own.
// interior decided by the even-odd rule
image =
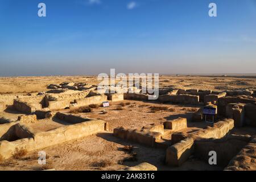
<svg viewBox="0 0 256 182">
<path fill-rule="evenodd" d="M 199 104 L 199 96 L 192 95 L 163 95 L 158 97 L 158 101 L 160 102 L 172 102 L 175 104 Z"/>
</svg>

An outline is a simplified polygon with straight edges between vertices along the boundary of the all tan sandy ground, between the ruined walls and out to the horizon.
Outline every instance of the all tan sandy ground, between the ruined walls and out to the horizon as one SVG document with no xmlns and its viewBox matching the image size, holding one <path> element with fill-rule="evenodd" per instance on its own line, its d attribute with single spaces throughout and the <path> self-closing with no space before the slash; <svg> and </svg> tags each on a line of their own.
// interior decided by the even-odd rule
<svg viewBox="0 0 256 182">
<path fill-rule="evenodd" d="M 77 76 L 77 77 L 8 77 L 0 78 L 0 93 L 26 94 L 30 92 L 46 91 L 48 84 L 60 84 L 61 82 L 86 82 L 97 84 L 96 77 Z M 160 86 L 168 88 L 183 89 L 255 89 L 255 78 L 237 77 L 200 77 L 200 76 L 162 76 Z M 194 109 L 201 106 L 185 106 L 156 104 L 141 101 L 122 101 L 130 102 L 124 106 L 123 110 L 116 110 L 121 102 L 114 102 L 110 107 L 93 109 L 91 113 L 83 113 L 89 118 L 103 119 L 109 122 L 109 133 L 99 133 L 85 138 L 72 140 L 55 146 L 42 148 L 48 155 L 48 168 L 56 170 L 117 170 L 125 166 L 135 166 L 142 162 L 148 162 L 158 167 L 159 170 L 221 170 L 223 168 L 210 166 L 209 164 L 190 158 L 181 167 L 170 167 L 164 164 L 166 151 L 157 148 L 146 147 L 138 143 L 127 142 L 113 137 L 112 132 L 115 127 L 123 126 L 132 129 L 141 128 L 151 123 L 161 123 L 177 117 L 186 117 L 188 121 L 192 117 Z M 152 113 L 150 106 L 168 106 L 174 111 L 158 111 Z M 102 114 L 102 110 L 107 109 L 107 114 Z M 64 110 L 69 112 L 69 110 Z M 11 111 L 0 112 L 0 117 L 18 118 L 20 113 Z M 38 123 L 29 124 L 36 132 L 47 131 L 55 127 L 68 125 L 68 123 L 42 119 Z M 205 123 L 188 123 L 189 130 L 196 130 L 206 126 Z M 256 134 L 252 128 L 242 128 L 233 131 L 234 134 Z M 135 161 L 126 161 L 131 154 L 123 151 L 126 145 L 134 146 L 136 153 Z M 38 152 L 29 152 L 20 159 L 10 159 L 0 164 L 0 170 L 40 170 L 42 166 L 38 164 Z"/>
</svg>

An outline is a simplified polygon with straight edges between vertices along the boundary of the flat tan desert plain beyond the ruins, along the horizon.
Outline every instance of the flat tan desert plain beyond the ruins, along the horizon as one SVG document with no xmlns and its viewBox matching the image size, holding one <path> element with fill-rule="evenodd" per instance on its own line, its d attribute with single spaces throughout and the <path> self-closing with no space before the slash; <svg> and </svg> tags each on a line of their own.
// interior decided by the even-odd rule
<svg viewBox="0 0 256 182">
<path fill-rule="evenodd" d="M 96 76 L 0 77 L 0 93 L 46 91 L 48 84 L 86 82 L 97 85 Z M 160 76 L 160 87 L 202 90 L 256 89 L 255 77 Z"/>
</svg>

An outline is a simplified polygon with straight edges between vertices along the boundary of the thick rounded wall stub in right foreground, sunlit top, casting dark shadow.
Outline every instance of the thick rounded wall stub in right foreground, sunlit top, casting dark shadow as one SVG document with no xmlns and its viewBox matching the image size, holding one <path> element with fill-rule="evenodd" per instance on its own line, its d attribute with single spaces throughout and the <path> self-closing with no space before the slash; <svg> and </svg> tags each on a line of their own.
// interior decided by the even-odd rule
<svg viewBox="0 0 256 182">
<path fill-rule="evenodd" d="M 168 147 L 166 150 L 166 163 L 170 166 L 181 166 L 193 153 L 193 138 L 185 138 Z"/>
</svg>

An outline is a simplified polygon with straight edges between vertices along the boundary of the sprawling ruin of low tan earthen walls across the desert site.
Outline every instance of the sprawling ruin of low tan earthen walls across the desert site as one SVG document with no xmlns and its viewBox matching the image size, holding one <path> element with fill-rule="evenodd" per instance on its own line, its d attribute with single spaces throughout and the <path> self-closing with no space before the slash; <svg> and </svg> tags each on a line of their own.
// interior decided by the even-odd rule
<svg viewBox="0 0 256 182">
<path fill-rule="evenodd" d="M 191 158 L 208 163 L 209 152 L 215 151 L 217 166 L 224 170 L 256 170 L 255 133 L 240 132 L 243 127 L 255 130 L 255 90 L 214 92 L 160 88 L 158 100 L 148 100 L 148 94 L 119 91 L 113 94 L 99 93 L 96 86 L 82 83 L 51 84 L 48 89 L 47 92 L 30 95 L 0 95 L 0 111 L 7 113 L 0 118 L 2 158 L 11 158 L 17 148 L 35 151 L 90 135 L 108 133 L 120 141 L 163 151 L 163 163 L 167 168 L 181 167 Z M 102 105 L 103 102 L 113 105 L 120 101 L 198 109 L 192 110 L 189 118 L 185 114 L 177 115 L 164 122 L 147 123 L 136 129 L 119 126 L 112 130 L 109 129 L 109 122 L 86 117 L 79 111 L 81 107 Z M 214 113 L 205 114 L 207 111 Z M 107 111 L 100 114 L 105 113 Z M 49 122 L 43 125 L 46 119 Z M 145 161 L 123 170 L 157 169 L 148 163 Z"/>
</svg>

